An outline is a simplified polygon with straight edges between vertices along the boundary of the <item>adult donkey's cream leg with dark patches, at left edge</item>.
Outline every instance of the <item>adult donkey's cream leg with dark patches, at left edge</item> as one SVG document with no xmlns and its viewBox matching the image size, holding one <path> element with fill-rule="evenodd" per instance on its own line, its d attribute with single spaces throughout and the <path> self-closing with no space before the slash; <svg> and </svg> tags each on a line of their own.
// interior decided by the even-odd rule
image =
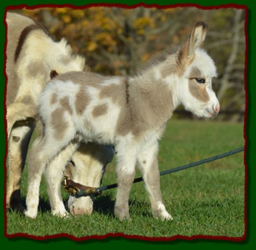
<svg viewBox="0 0 256 250">
<path fill-rule="evenodd" d="M 8 144 L 8 185 L 6 207 L 23 211 L 21 202 L 21 174 L 24 169 L 28 144 L 33 133 L 34 124 L 14 127 Z"/>
</svg>

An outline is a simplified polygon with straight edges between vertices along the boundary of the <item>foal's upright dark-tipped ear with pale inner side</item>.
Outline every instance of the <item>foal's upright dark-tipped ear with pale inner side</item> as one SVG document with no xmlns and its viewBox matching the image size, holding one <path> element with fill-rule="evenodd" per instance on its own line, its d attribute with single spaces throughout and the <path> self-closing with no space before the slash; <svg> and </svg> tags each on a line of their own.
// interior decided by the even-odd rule
<svg viewBox="0 0 256 250">
<path fill-rule="evenodd" d="M 188 58 L 191 58 L 203 41 L 205 41 L 206 31 L 209 25 L 206 22 L 196 22 L 188 41 Z"/>
</svg>

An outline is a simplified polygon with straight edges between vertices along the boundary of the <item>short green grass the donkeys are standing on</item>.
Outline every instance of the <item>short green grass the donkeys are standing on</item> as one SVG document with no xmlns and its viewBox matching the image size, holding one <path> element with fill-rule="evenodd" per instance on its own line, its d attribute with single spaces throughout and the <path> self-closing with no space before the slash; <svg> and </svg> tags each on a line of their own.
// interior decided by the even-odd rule
<svg viewBox="0 0 256 250">
<path fill-rule="evenodd" d="M 181 121 L 171 119 L 159 144 L 159 170 L 175 168 L 244 145 L 242 123 Z M 102 185 L 116 182 L 115 161 L 107 166 Z M 141 176 L 137 171 L 136 177 Z M 26 197 L 27 170 L 22 181 Z M 121 232 L 138 237 L 226 236 L 242 237 L 245 232 L 245 166 L 243 153 L 161 177 L 164 204 L 173 221 L 154 219 L 144 183 L 132 186 L 131 220 L 114 216 L 116 189 L 95 198 L 90 216 L 51 216 L 46 185 L 40 189 L 40 212 L 29 219 L 7 212 L 7 233 L 33 236 L 70 234 L 73 237 L 104 236 Z M 68 195 L 63 191 L 63 199 Z"/>
</svg>

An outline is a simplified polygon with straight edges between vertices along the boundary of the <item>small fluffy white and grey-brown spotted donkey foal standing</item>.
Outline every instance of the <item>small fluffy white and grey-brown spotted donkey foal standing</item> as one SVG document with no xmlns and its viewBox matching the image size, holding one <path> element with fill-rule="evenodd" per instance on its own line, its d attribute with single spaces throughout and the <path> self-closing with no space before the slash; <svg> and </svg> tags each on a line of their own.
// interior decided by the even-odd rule
<svg viewBox="0 0 256 250">
<path fill-rule="evenodd" d="M 220 104 L 211 88 L 213 60 L 199 46 L 208 26 L 198 22 L 177 53 L 133 77 L 67 73 L 50 81 L 39 98 L 44 136 L 29 156 L 26 216 L 36 217 L 41 173 L 46 169 L 53 214 L 67 216 L 60 196 L 60 176 L 81 141 L 115 144 L 117 196 L 115 215 L 129 219 L 129 192 L 136 163 L 142 171 L 154 217 L 172 219 L 162 201 L 157 166 L 158 140 L 174 109 L 183 104 L 196 116 L 213 118 Z M 65 105 L 60 103 L 65 99 Z M 47 166 L 61 151 L 66 161 Z"/>
</svg>

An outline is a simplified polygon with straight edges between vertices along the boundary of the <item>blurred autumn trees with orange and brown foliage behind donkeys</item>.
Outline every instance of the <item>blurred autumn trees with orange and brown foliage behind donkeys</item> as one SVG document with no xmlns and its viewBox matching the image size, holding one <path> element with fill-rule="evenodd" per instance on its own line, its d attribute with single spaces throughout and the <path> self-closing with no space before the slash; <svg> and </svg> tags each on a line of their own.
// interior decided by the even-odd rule
<svg viewBox="0 0 256 250">
<path fill-rule="evenodd" d="M 196 21 L 210 30 L 203 45 L 216 63 L 213 89 L 220 100 L 218 119 L 243 121 L 245 111 L 245 10 L 227 8 L 40 8 L 16 10 L 33 17 L 54 39 L 65 37 L 73 51 L 85 56 L 91 71 L 134 74 L 157 53 L 186 41 Z"/>
</svg>

